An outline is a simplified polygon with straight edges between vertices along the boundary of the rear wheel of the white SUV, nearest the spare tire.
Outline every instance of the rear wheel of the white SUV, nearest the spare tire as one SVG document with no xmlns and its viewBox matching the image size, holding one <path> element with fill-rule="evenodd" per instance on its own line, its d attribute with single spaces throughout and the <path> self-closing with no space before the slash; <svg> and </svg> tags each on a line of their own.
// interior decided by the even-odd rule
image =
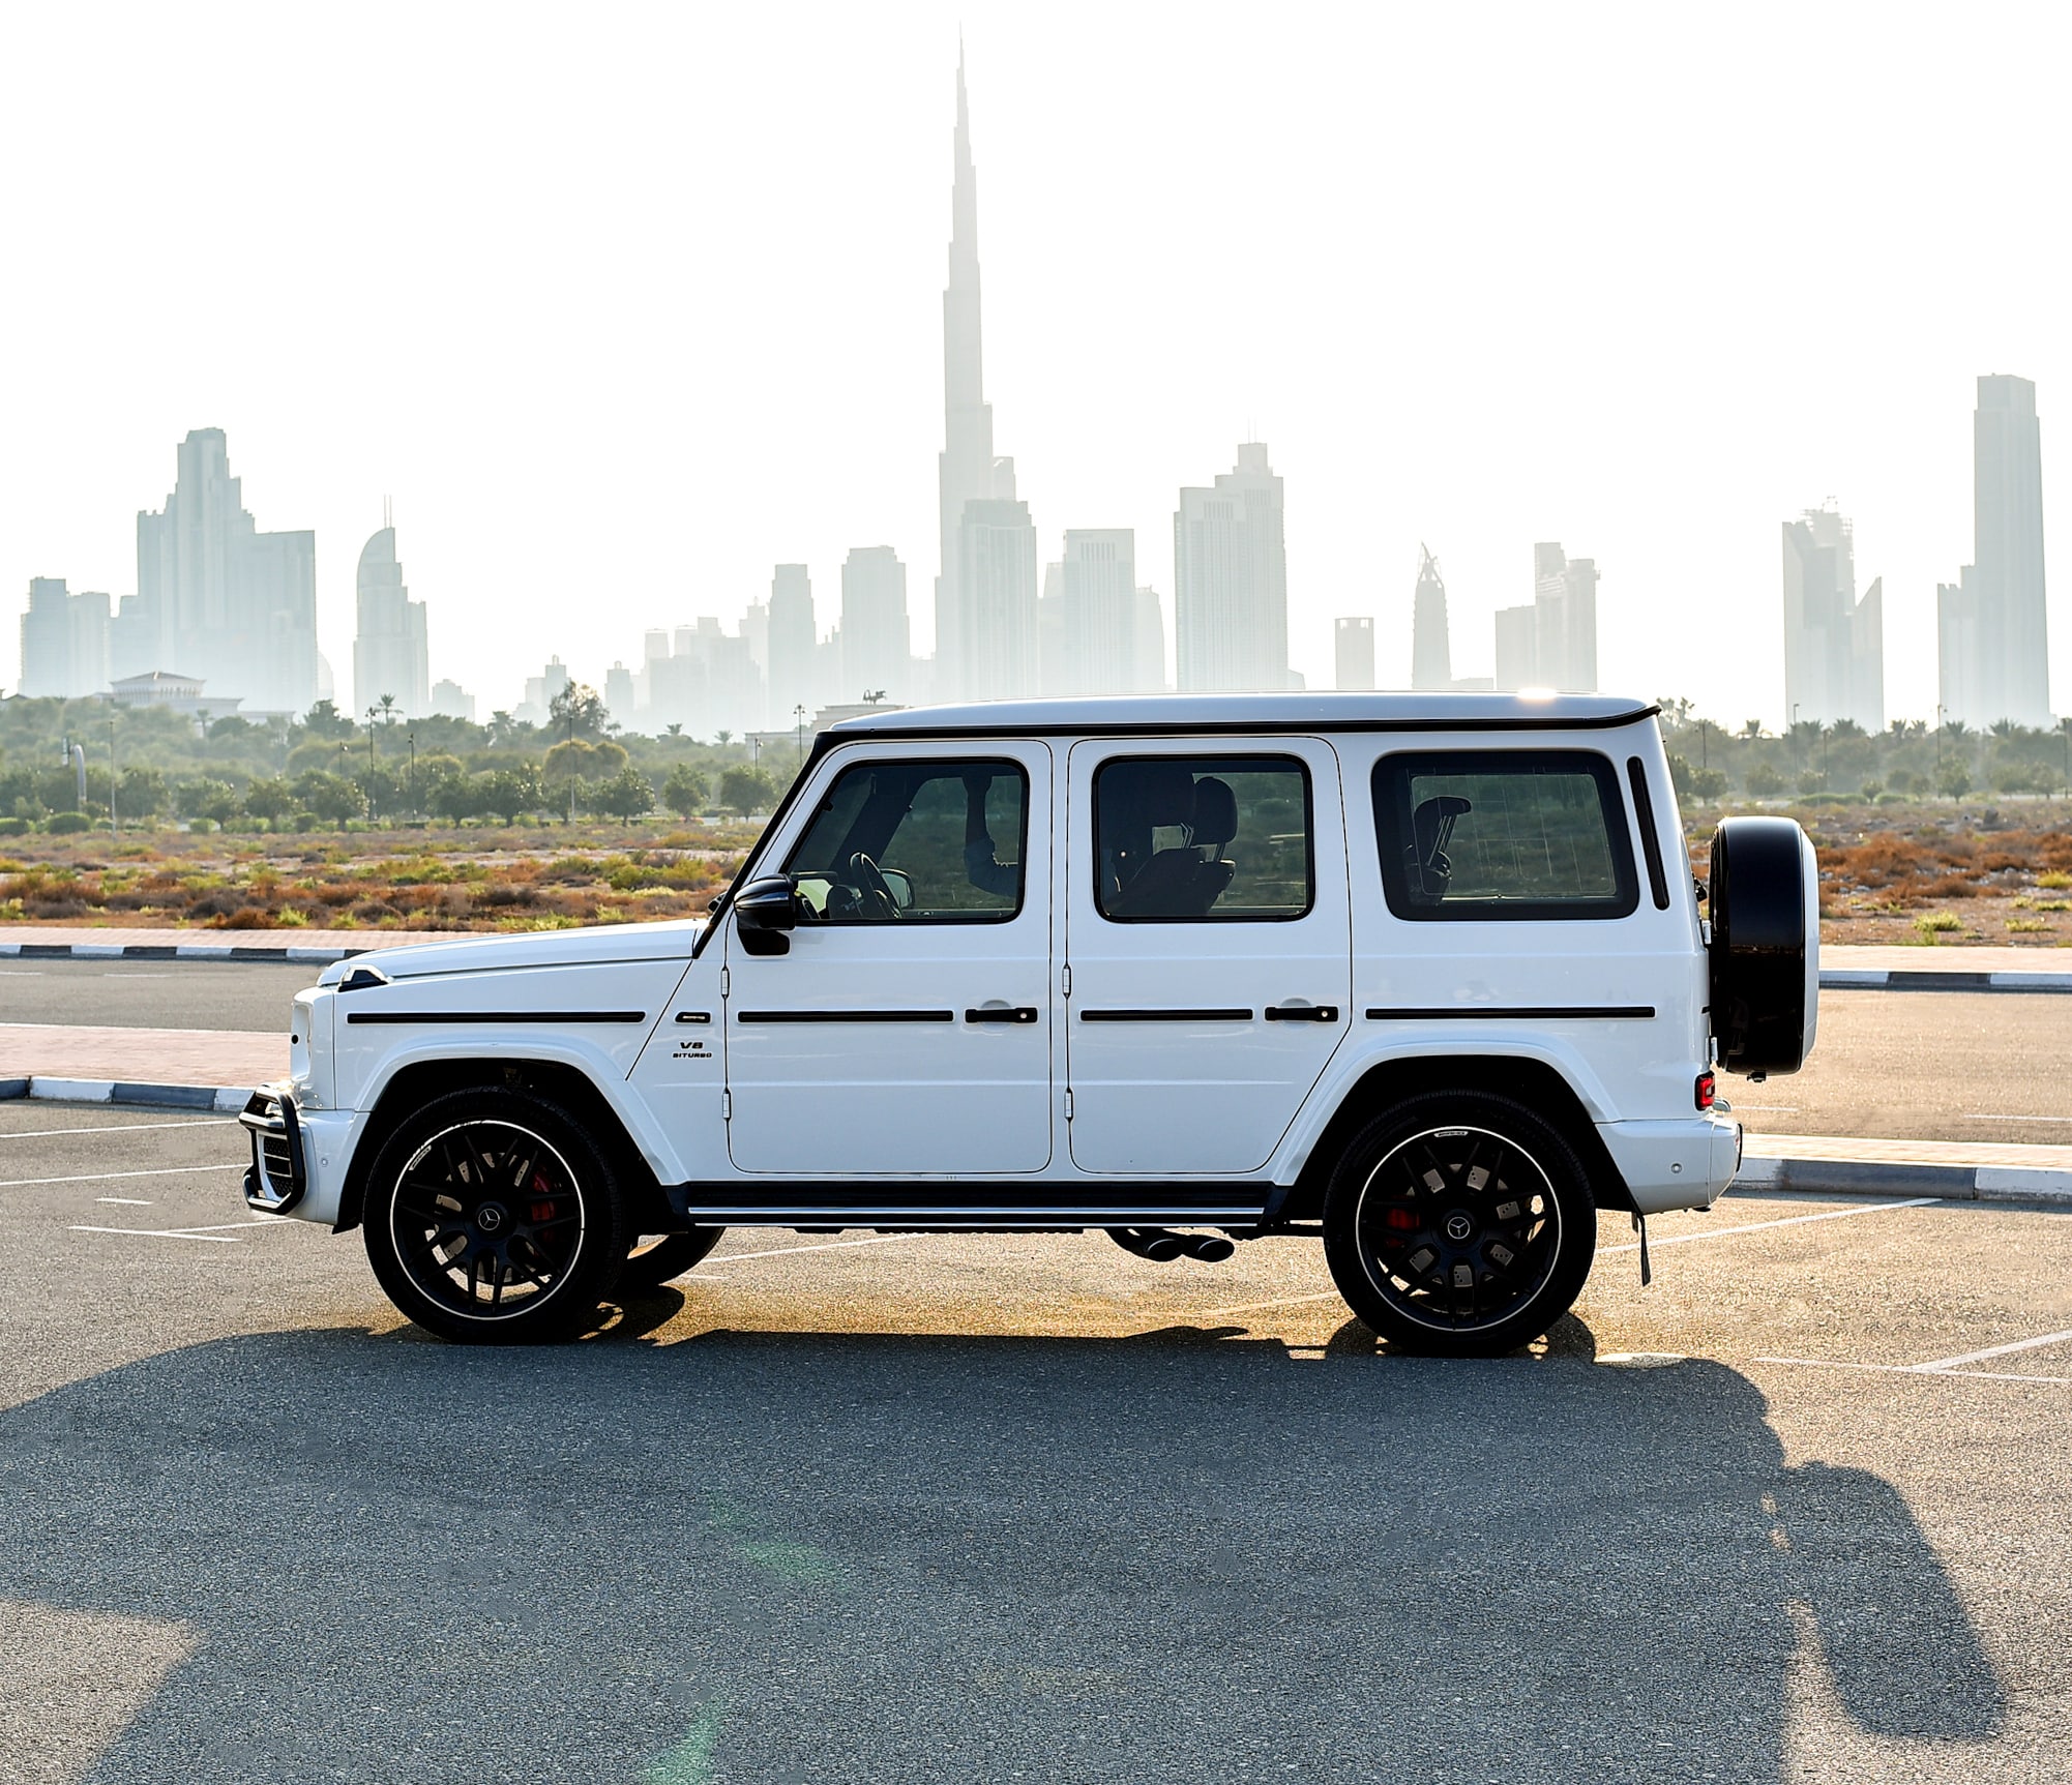
<svg viewBox="0 0 2072 1785">
<path fill-rule="evenodd" d="M 1353 1137 L 1324 1191 L 1339 1294 L 1407 1350 L 1496 1356 L 1529 1344 L 1583 1292 L 1595 1251 L 1575 1147 L 1492 1091 L 1405 1098 Z"/>
</svg>

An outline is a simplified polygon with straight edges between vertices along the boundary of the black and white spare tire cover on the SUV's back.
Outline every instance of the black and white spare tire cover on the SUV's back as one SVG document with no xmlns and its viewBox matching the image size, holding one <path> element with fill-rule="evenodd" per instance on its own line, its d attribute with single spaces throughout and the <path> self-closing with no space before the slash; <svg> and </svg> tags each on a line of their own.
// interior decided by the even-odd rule
<svg viewBox="0 0 2072 1785">
<path fill-rule="evenodd" d="M 1711 835 L 1711 1031 L 1730 1073 L 1796 1073 L 1819 1019 L 1819 870 L 1790 818 Z"/>
</svg>

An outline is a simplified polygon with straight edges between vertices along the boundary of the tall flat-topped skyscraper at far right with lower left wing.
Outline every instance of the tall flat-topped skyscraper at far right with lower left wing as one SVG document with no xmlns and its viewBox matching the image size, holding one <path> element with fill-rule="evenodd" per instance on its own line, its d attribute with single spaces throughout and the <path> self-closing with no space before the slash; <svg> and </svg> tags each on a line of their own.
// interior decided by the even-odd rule
<svg viewBox="0 0 2072 1785">
<path fill-rule="evenodd" d="M 2043 441 L 2028 379 L 1979 379 L 1973 561 L 1935 590 L 1941 704 L 1966 725 L 2051 723 Z"/>
</svg>

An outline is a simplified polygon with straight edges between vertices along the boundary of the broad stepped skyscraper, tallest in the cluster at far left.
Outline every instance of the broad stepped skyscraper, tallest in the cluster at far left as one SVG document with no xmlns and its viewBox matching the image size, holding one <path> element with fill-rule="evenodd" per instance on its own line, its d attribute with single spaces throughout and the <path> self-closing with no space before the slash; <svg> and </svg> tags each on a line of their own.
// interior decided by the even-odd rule
<svg viewBox="0 0 2072 1785">
<path fill-rule="evenodd" d="M 178 669 L 247 710 L 317 698 L 317 536 L 257 530 L 222 429 L 180 443 L 166 507 L 137 516 L 137 594 L 112 654 L 116 675 Z"/>
</svg>

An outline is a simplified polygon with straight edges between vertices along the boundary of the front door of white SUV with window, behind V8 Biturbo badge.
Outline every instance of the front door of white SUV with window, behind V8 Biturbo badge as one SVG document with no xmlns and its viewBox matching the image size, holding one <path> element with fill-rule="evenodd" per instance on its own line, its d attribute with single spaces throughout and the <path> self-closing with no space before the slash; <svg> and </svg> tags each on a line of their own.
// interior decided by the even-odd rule
<svg viewBox="0 0 2072 1785">
<path fill-rule="evenodd" d="M 727 1151 L 812 1178 L 1051 1162 L 1051 752 L 860 745 L 816 770 L 800 924 L 727 924 Z"/>
</svg>

